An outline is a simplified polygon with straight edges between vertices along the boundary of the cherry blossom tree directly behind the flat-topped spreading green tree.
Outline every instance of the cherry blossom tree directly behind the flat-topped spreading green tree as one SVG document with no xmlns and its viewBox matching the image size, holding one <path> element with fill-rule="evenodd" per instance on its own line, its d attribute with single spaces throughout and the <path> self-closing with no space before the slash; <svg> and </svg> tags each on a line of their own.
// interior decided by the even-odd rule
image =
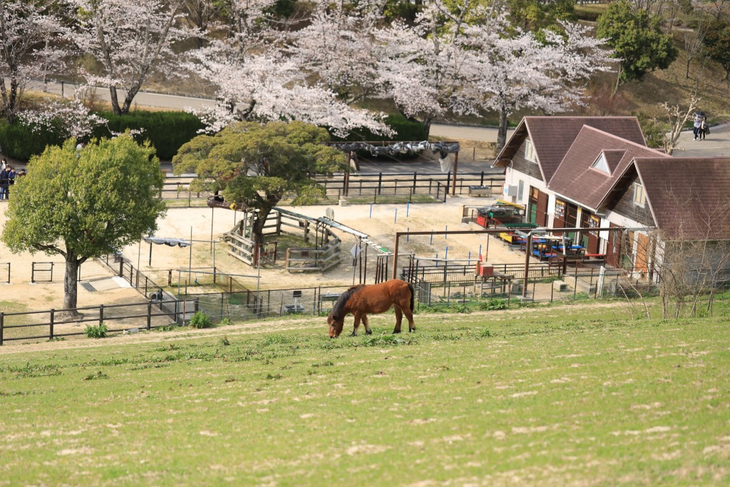
<svg viewBox="0 0 730 487">
<path fill-rule="evenodd" d="M 218 87 L 215 108 L 200 114 L 215 132 L 234 120 L 300 120 L 337 135 L 363 127 L 387 133 L 383 114 L 350 107 L 286 55 L 286 32 L 269 23 L 274 0 L 229 0 L 229 31 L 193 51 L 188 69 Z"/>
</svg>

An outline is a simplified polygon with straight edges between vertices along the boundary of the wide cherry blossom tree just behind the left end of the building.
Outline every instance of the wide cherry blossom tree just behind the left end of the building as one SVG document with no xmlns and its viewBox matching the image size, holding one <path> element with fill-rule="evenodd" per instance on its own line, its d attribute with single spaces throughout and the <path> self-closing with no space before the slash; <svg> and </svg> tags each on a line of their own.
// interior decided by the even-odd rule
<svg viewBox="0 0 730 487">
<path fill-rule="evenodd" d="M 603 42 L 575 23 L 562 32 L 521 31 L 507 12 L 462 0 L 436 0 L 415 25 L 394 23 L 377 32 L 383 94 L 405 115 L 431 120 L 449 111 L 499 113 L 497 145 L 507 138 L 510 115 L 530 109 L 568 110 L 580 101 L 580 82 L 607 70 Z"/>
</svg>

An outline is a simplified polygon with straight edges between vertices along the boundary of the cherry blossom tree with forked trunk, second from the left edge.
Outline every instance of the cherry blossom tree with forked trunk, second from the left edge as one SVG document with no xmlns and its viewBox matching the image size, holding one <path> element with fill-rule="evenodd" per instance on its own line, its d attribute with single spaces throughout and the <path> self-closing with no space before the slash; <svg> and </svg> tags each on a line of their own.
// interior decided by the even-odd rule
<svg viewBox="0 0 730 487">
<path fill-rule="evenodd" d="M 68 1 L 77 22 L 69 39 L 96 59 L 99 71 L 85 76 L 88 83 L 109 87 L 115 114 L 129 112 L 151 74 L 180 72 L 179 56 L 172 46 L 192 35 L 178 22 L 183 0 Z M 121 102 L 120 89 L 124 91 Z"/>
</svg>

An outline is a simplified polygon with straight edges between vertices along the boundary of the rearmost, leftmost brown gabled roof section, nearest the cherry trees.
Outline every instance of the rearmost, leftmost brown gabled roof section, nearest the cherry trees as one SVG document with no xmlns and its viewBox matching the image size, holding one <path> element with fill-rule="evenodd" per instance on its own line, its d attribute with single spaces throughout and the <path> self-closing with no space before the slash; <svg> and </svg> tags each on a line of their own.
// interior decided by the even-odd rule
<svg viewBox="0 0 730 487">
<path fill-rule="evenodd" d="M 492 166 L 506 167 L 524 139 L 529 137 L 535 147 L 542 179 L 547 183 L 584 125 L 646 145 L 636 117 L 525 117 Z"/>
</svg>

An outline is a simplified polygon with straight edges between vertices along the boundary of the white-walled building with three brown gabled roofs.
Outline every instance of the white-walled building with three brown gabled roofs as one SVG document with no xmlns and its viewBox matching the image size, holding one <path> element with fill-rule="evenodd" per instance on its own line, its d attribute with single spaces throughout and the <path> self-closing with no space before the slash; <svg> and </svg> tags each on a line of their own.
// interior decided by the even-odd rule
<svg viewBox="0 0 730 487">
<path fill-rule="evenodd" d="M 650 149 L 634 117 L 526 117 L 493 166 L 531 223 L 629 229 L 566 234 L 635 274 L 653 274 L 664 242 L 730 241 L 730 158 Z"/>
</svg>

